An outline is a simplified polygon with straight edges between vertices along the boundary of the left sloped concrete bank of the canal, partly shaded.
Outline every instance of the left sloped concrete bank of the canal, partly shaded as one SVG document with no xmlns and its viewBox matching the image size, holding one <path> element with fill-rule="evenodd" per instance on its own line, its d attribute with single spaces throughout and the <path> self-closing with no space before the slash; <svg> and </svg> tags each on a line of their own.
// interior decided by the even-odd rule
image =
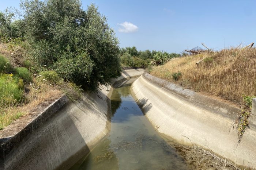
<svg viewBox="0 0 256 170">
<path fill-rule="evenodd" d="M 113 80 L 120 85 L 143 69 L 124 70 Z M 69 169 L 110 130 L 112 86 L 86 92 L 73 103 L 56 96 L 37 112 L 0 131 L 0 169 Z"/>
</svg>

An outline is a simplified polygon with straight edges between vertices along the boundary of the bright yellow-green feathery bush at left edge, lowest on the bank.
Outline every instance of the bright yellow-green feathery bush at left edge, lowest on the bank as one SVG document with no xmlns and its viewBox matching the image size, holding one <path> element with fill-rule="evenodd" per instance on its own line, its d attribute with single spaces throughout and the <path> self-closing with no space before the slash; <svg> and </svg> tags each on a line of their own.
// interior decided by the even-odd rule
<svg viewBox="0 0 256 170">
<path fill-rule="evenodd" d="M 0 77 L 0 105 L 8 107 L 23 100 L 23 89 L 19 87 L 16 80 L 8 75 L 3 74 Z"/>
</svg>

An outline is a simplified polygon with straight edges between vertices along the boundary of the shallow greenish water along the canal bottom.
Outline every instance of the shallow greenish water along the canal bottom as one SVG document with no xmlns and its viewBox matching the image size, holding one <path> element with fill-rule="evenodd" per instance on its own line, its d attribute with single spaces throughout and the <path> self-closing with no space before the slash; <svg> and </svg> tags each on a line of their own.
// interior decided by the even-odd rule
<svg viewBox="0 0 256 170">
<path fill-rule="evenodd" d="M 111 131 L 78 169 L 187 169 L 185 161 L 158 135 L 143 115 L 131 96 L 130 88 L 114 89 L 111 96 Z"/>
</svg>

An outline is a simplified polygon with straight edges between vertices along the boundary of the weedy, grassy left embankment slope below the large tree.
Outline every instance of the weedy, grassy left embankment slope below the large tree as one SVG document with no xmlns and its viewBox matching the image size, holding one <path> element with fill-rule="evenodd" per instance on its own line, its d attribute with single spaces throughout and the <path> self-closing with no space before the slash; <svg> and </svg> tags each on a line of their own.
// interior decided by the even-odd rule
<svg viewBox="0 0 256 170">
<path fill-rule="evenodd" d="M 65 82 L 54 71 L 42 66 L 35 70 L 25 49 L 16 43 L 0 44 L 0 130 L 26 115 L 38 104 L 66 93 L 71 100 L 81 89 Z"/>
</svg>

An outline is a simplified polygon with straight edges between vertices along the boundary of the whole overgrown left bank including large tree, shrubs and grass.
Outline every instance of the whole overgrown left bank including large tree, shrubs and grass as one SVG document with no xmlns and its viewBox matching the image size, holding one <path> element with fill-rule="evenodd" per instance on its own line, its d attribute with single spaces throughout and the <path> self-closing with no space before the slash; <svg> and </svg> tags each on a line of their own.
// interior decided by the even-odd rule
<svg viewBox="0 0 256 170">
<path fill-rule="evenodd" d="M 0 130 L 42 101 L 78 98 L 80 87 L 95 91 L 121 74 L 118 39 L 94 4 L 21 1 L 20 8 L 0 11 Z"/>
</svg>

